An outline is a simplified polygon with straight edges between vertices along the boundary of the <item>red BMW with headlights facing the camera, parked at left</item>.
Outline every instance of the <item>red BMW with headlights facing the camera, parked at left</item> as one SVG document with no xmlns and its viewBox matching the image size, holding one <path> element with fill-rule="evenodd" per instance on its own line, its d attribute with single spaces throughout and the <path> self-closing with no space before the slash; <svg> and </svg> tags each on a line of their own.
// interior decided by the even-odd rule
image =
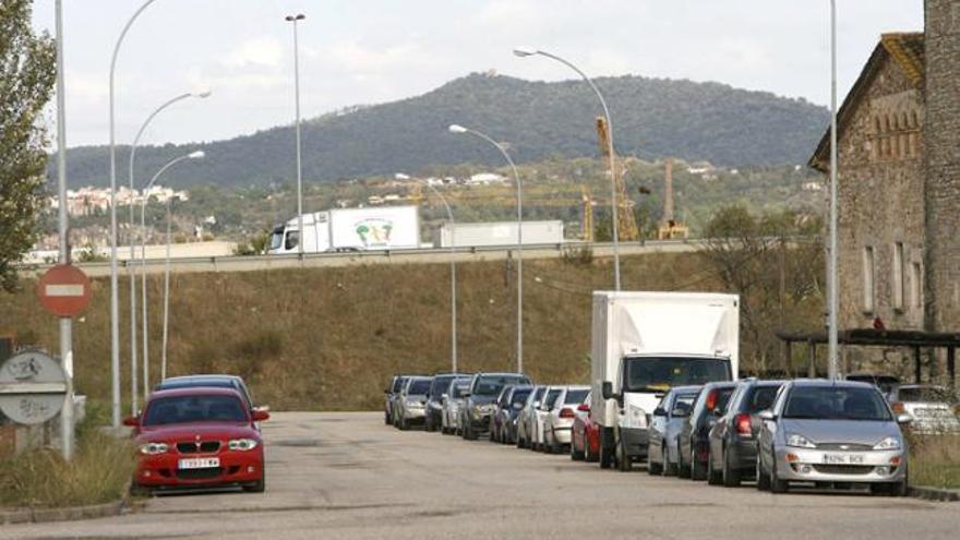
<svg viewBox="0 0 960 540">
<path fill-rule="evenodd" d="M 123 421 L 134 429 L 134 487 L 264 491 L 263 440 L 254 422 L 268 418 L 266 411 L 251 411 L 231 388 L 154 392 L 142 416 Z"/>
</svg>

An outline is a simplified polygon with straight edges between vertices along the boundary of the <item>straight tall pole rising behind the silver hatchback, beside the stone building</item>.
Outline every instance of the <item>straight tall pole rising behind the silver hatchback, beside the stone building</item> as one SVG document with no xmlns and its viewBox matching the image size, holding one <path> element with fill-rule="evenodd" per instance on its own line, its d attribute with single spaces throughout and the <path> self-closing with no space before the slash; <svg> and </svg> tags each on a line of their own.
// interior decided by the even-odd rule
<svg viewBox="0 0 960 540">
<path fill-rule="evenodd" d="M 830 260 L 827 274 L 830 379 L 838 379 L 840 375 L 837 328 L 837 311 L 840 309 L 837 297 L 837 0 L 830 0 Z"/>
</svg>

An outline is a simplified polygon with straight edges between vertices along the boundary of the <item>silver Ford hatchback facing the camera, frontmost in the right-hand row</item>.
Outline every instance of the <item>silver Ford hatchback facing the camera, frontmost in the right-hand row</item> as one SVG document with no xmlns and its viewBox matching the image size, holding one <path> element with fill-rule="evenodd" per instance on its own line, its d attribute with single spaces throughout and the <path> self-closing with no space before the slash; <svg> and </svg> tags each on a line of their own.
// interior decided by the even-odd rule
<svg viewBox="0 0 960 540">
<path fill-rule="evenodd" d="M 869 484 L 907 494 L 908 452 L 900 423 L 876 386 L 850 381 L 784 384 L 760 412 L 757 489 L 788 491 L 791 482 L 818 488 Z"/>
</svg>

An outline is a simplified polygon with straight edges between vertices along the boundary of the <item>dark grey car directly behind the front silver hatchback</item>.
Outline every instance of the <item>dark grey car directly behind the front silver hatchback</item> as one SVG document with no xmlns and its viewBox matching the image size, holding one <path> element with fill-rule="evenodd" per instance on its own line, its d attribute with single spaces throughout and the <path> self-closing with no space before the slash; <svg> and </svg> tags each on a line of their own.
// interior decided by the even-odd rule
<svg viewBox="0 0 960 540">
<path fill-rule="evenodd" d="M 769 409 L 783 381 L 741 381 L 730 396 L 722 417 L 710 430 L 707 481 L 728 488 L 740 485 L 743 477 L 753 477 L 757 466 L 759 413 Z"/>
</svg>

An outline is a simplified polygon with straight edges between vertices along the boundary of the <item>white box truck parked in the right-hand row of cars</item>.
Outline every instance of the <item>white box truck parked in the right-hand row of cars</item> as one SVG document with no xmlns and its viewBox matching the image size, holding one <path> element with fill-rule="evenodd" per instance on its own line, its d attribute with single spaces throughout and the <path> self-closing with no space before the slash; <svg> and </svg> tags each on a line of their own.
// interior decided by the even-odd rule
<svg viewBox="0 0 960 540">
<path fill-rule="evenodd" d="M 740 297 L 595 291 L 591 410 L 600 466 L 646 458 L 651 413 L 673 386 L 735 381 Z"/>
</svg>

